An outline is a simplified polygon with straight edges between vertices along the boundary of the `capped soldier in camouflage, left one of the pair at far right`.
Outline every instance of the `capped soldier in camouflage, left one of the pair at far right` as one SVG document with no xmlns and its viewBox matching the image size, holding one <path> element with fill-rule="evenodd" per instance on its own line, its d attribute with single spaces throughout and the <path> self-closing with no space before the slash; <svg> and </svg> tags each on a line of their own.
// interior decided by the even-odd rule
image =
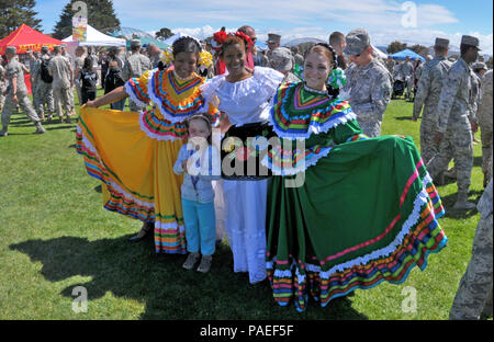
<svg viewBox="0 0 494 342">
<path fill-rule="evenodd" d="M 439 103 L 442 82 L 451 68 L 451 62 L 446 58 L 448 47 L 448 39 L 436 38 L 434 46 L 436 57 L 424 65 L 417 84 L 413 121 L 418 119 L 424 107 L 420 122 L 420 155 L 425 164 L 438 152 L 434 137 L 437 127 L 437 104 Z"/>
</svg>

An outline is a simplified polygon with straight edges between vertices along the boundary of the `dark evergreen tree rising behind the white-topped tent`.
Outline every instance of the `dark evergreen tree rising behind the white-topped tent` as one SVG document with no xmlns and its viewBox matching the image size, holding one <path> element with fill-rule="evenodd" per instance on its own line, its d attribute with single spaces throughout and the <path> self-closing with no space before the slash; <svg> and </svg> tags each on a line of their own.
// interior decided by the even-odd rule
<svg viewBox="0 0 494 342">
<path fill-rule="evenodd" d="M 54 37 L 64 39 L 72 34 L 72 16 L 78 10 L 72 10 L 72 3 L 77 0 L 70 0 L 61 11 L 60 19 L 54 27 Z M 120 26 L 120 20 L 116 18 L 112 0 L 85 0 L 88 7 L 88 24 L 96 30 Z"/>
</svg>

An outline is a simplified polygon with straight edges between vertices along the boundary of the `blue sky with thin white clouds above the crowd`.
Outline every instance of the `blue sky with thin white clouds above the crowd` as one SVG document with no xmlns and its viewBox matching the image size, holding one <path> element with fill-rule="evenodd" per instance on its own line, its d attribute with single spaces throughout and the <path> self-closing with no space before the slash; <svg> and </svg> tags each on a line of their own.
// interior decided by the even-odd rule
<svg viewBox="0 0 494 342">
<path fill-rule="evenodd" d="M 37 0 L 35 10 L 43 30 L 53 31 L 68 1 Z M 431 45 L 436 36 L 459 46 L 462 34 L 475 35 L 484 53 L 493 50 L 493 4 L 487 0 L 113 0 L 122 26 L 154 32 L 160 27 L 199 38 L 221 26 L 254 26 L 263 39 L 268 32 L 293 38 L 327 39 L 333 31 L 369 31 L 374 45 L 394 39 Z"/>
</svg>

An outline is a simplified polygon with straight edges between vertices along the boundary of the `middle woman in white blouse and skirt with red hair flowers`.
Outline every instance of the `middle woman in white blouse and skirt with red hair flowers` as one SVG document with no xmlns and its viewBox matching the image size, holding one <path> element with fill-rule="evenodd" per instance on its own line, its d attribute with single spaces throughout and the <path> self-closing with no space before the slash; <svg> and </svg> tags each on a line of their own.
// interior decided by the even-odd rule
<svg viewBox="0 0 494 342">
<path fill-rule="evenodd" d="M 283 75 L 270 68 L 246 67 L 246 49 L 252 44 L 242 33 L 228 35 L 222 46 L 221 58 L 228 70 L 227 75 L 216 76 L 202 86 L 202 94 L 212 100 L 220 99 L 220 111 L 227 115 L 232 124 L 228 136 L 259 136 L 267 132 L 269 102 Z M 238 141 L 238 140 L 237 140 Z M 226 144 L 228 145 L 228 144 Z M 225 141 L 223 148 L 225 147 Z M 227 152 L 231 152 L 226 149 Z M 256 148 L 254 148 L 256 151 Z M 235 148 L 229 153 L 235 163 L 246 160 L 245 155 L 252 149 Z M 225 149 L 222 151 L 222 157 Z M 233 161 L 232 159 L 232 161 Z M 224 164 L 224 162 L 223 162 Z M 247 164 L 244 162 L 244 164 Z M 246 168 L 244 168 L 246 170 Z M 223 171 L 224 168 L 223 168 Z M 242 173 L 242 172 L 240 172 Z M 259 172 L 257 172 L 259 173 Z M 234 256 L 234 272 L 248 272 L 251 284 L 266 278 L 266 202 L 267 176 L 225 176 L 223 175 L 224 202 L 226 206 L 226 233 Z"/>
</svg>

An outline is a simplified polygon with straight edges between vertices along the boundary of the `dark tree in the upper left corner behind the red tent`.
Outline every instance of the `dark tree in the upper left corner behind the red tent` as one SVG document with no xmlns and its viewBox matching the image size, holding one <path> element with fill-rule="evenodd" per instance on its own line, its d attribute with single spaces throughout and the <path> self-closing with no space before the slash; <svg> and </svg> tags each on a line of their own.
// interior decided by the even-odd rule
<svg viewBox="0 0 494 342">
<path fill-rule="evenodd" d="M 22 24 L 41 31 L 41 20 L 33 10 L 34 0 L 0 0 L 0 39 L 8 36 Z"/>
</svg>

